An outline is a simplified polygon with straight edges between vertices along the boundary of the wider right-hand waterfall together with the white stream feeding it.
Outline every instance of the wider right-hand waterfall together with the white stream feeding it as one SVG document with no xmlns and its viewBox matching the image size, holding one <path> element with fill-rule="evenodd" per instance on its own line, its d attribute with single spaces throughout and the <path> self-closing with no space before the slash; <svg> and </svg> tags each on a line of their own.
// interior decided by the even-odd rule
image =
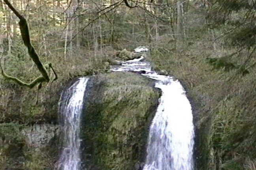
<svg viewBox="0 0 256 170">
<path fill-rule="evenodd" d="M 134 52 L 146 52 L 138 47 Z M 194 125 L 192 108 L 181 83 L 171 76 L 152 71 L 143 57 L 111 66 L 112 71 L 144 73 L 155 79 L 155 87 L 162 90 L 159 105 L 148 137 L 147 157 L 143 170 L 194 170 Z"/>
</svg>

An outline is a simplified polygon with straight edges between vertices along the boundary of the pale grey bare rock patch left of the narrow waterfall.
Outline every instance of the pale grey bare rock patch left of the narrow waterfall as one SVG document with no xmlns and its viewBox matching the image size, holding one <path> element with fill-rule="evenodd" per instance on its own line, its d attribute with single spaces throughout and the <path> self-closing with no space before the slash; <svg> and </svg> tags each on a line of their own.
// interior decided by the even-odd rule
<svg viewBox="0 0 256 170">
<path fill-rule="evenodd" d="M 21 133 L 24 135 L 26 144 L 30 147 L 39 150 L 49 144 L 59 133 L 59 126 L 52 124 L 35 124 L 30 127 L 25 127 Z"/>
</svg>

